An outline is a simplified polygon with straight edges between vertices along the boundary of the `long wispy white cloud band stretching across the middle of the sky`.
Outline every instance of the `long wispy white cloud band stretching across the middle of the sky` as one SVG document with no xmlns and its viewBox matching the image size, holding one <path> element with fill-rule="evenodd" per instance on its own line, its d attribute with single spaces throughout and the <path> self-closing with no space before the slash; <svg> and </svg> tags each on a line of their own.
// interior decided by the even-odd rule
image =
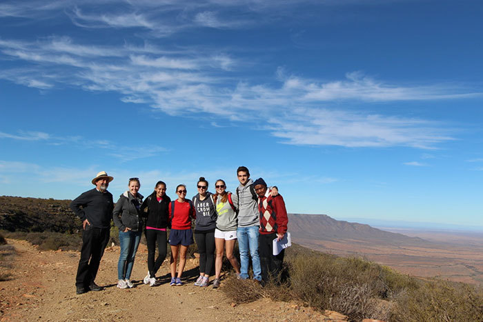
<svg viewBox="0 0 483 322">
<path fill-rule="evenodd" d="M 53 45 L 57 43 L 57 45 Z M 61 46 L 58 44 L 61 43 Z M 46 44 L 46 46 L 43 46 Z M 116 91 L 122 101 L 148 103 L 172 115 L 208 113 L 231 121 L 239 115 L 254 113 L 255 119 L 265 119 L 266 128 L 283 143 L 296 145 L 341 145 L 348 147 L 384 147 L 393 145 L 432 148 L 435 143 L 453 139 L 449 130 L 436 122 L 408 119 L 381 114 L 344 112 L 320 108 L 333 101 L 412 101 L 420 99 L 461 99 L 480 93 L 465 92 L 464 87 L 445 85 L 413 85 L 404 87 L 374 81 L 360 73 L 349 73 L 344 81 L 321 82 L 287 75 L 283 70 L 275 74 L 279 85 L 234 82 L 230 72 L 218 63 L 207 63 L 218 57 L 182 57 L 179 54 L 157 56 L 137 54 L 124 46 L 96 48 L 79 45 L 70 39 L 50 38 L 43 43 L 2 40 L 1 51 L 15 59 L 34 63 L 33 74 L 23 69 L 18 77 L 35 79 L 37 84 L 52 86 L 52 79 L 86 90 Z M 74 46 L 70 48 L 69 46 Z M 89 47 L 87 50 L 82 50 Z M 55 54 L 45 48 L 55 48 Z M 71 54 L 76 52 L 77 54 Z M 119 64 L 104 60 L 107 52 L 116 52 Z M 124 57 L 119 53 L 124 52 Z M 191 54 L 191 51 L 190 51 Z M 97 56 L 96 56 L 97 55 Z M 95 62 L 92 62 L 95 59 Z M 228 60 L 231 65 L 231 59 Z M 48 63 L 48 66 L 43 64 Z M 70 66 L 66 77 L 62 65 Z M 121 66 L 121 67 L 119 67 Z M 41 79 L 41 70 L 48 74 Z M 211 74 L 217 71 L 218 76 Z M 54 77 L 58 74 L 58 77 Z M 0 72 L 0 77 L 14 81 L 14 71 Z M 32 84 L 32 83 L 31 83 Z M 324 92 L 322 95 L 321 92 Z M 425 92 L 424 96 L 420 93 Z M 449 94 L 449 93 L 453 94 Z M 367 94 L 371 93 L 371 94 Z"/>
</svg>

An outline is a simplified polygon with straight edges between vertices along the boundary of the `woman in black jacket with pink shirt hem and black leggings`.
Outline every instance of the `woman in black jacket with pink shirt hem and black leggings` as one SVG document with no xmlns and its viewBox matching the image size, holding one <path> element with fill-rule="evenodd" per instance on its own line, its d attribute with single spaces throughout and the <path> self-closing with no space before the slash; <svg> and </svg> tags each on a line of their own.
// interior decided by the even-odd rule
<svg viewBox="0 0 483 322">
<path fill-rule="evenodd" d="M 168 227 L 170 197 L 166 195 L 166 183 L 157 181 L 152 192 L 141 205 L 141 214 L 146 218 L 146 243 L 148 245 L 148 274 L 144 284 L 156 285 L 156 272 L 166 259 L 166 228 Z M 158 256 L 155 260 L 156 244 Z"/>
</svg>

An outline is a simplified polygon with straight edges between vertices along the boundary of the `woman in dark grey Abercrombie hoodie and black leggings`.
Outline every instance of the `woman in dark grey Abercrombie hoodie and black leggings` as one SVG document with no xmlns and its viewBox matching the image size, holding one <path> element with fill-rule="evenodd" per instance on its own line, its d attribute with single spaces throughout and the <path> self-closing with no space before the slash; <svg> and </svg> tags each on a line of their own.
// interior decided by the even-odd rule
<svg viewBox="0 0 483 322">
<path fill-rule="evenodd" d="M 199 277 L 195 285 L 207 287 L 215 262 L 217 213 L 213 194 L 208 192 L 208 181 L 204 177 L 199 177 L 197 188 L 198 193 L 192 199 L 196 212 L 195 241 L 199 252 Z"/>
</svg>

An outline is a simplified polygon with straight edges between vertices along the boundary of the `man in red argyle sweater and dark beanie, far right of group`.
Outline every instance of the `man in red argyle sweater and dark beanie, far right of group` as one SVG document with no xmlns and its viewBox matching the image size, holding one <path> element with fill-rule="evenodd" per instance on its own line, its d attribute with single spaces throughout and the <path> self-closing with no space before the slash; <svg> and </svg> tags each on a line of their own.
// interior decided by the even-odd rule
<svg viewBox="0 0 483 322">
<path fill-rule="evenodd" d="M 262 265 L 262 281 L 266 283 L 270 278 L 279 281 L 285 250 L 274 256 L 273 240 L 281 240 L 287 232 L 288 217 L 284 198 L 280 194 L 275 197 L 270 196 L 262 178 L 257 179 L 253 183 L 253 187 L 258 194 L 260 219 L 258 251 Z"/>
</svg>

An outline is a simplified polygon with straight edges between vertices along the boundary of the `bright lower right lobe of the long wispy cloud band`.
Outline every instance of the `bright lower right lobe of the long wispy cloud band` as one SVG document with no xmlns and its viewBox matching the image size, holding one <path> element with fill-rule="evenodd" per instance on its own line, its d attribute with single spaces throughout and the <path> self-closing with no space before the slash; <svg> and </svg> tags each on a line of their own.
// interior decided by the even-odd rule
<svg viewBox="0 0 483 322">
<path fill-rule="evenodd" d="M 290 122 L 272 118 L 268 128 L 283 143 L 294 145 L 340 145 L 346 147 L 411 146 L 432 148 L 452 140 L 431 121 L 384 117 L 316 108 L 295 108 Z"/>
</svg>

